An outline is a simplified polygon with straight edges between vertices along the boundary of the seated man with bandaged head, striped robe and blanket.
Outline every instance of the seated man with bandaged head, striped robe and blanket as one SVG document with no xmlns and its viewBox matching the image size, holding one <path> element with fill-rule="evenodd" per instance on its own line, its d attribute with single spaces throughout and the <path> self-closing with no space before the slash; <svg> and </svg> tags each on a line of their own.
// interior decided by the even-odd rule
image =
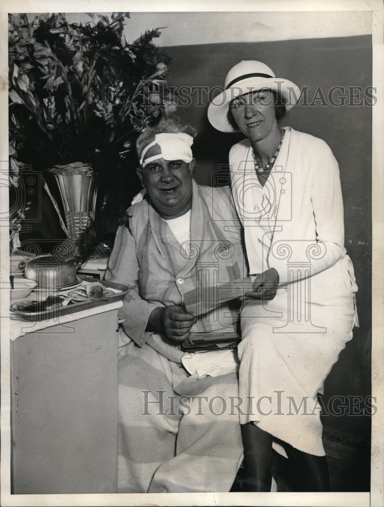
<svg viewBox="0 0 384 507">
<path fill-rule="evenodd" d="M 246 273 L 229 188 L 192 178 L 192 132 L 166 118 L 138 138 L 144 189 L 105 276 L 130 287 L 119 312 L 118 492 L 229 491 L 242 461 L 236 351 L 181 349 L 191 332 L 234 331 L 240 303 L 198 316 L 185 296 Z"/>
</svg>

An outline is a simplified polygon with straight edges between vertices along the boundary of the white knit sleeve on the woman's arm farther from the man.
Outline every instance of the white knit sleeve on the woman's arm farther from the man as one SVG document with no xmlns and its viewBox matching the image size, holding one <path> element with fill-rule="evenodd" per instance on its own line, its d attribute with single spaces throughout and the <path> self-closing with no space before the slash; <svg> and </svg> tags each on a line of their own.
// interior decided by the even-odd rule
<svg viewBox="0 0 384 507">
<path fill-rule="evenodd" d="M 319 139 L 317 139 L 319 141 Z M 311 255 L 311 276 L 333 266 L 346 252 L 344 248 L 344 208 L 339 169 L 330 148 L 324 141 L 316 147 L 318 159 L 308 168 L 313 219 L 316 226 L 316 239 Z M 300 238 L 300 231 L 295 231 Z M 292 241 L 294 248 L 291 259 L 294 264 L 287 269 L 287 263 L 270 257 L 269 266 L 279 273 L 279 283 L 294 282 L 308 276 L 303 265 L 308 263 L 307 241 Z M 303 263 L 303 264 L 302 264 Z M 302 264 L 300 266 L 300 264 Z M 289 276 L 289 279 L 288 279 Z"/>
</svg>

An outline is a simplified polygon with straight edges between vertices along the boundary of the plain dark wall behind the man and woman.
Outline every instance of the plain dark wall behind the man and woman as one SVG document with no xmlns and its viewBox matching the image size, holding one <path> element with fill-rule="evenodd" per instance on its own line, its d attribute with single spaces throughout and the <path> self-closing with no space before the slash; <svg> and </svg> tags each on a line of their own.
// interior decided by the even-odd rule
<svg viewBox="0 0 384 507">
<path fill-rule="evenodd" d="M 371 86 L 372 46 L 369 36 L 268 43 L 209 44 L 164 48 L 173 59 L 169 84 L 180 88 L 224 86 L 228 70 L 240 60 L 261 60 L 277 77 L 308 86 L 308 102 L 318 87 L 327 96 L 334 86 Z M 324 139 L 340 167 L 345 209 L 346 248 L 355 266 L 359 291 L 360 328 L 340 354 L 326 385 L 324 401 L 340 396 L 370 394 L 371 350 L 371 107 L 349 104 L 294 107 L 284 124 Z M 364 93 L 364 92 L 363 92 Z M 217 94 L 213 93 L 213 96 Z M 335 93 L 335 98 L 340 95 Z M 228 164 L 228 153 L 240 134 L 220 133 L 206 118 L 209 94 L 191 93 L 192 103 L 179 107 L 178 115 L 198 129 L 194 143 L 195 178 L 211 185 L 219 165 Z M 365 98 L 364 94 L 363 97 Z M 355 103 L 358 99 L 354 99 Z M 372 103 L 372 100 L 369 101 Z M 346 402 L 348 400 L 346 399 Z M 368 439 L 369 417 L 326 417 L 324 425 Z"/>
</svg>

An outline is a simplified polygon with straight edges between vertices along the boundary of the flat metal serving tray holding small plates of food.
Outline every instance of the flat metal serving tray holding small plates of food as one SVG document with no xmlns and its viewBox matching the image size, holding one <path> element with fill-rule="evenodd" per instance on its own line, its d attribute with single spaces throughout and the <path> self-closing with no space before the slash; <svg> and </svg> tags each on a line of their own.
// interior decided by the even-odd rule
<svg viewBox="0 0 384 507">
<path fill-rule="evenodd" d="M 81 278 L 81 281 L 86 282 L 95 282 L 95 278 L 92 276 L 84 276 L 84 275 L 78 275 Z M 101 283 L 106 289 L 111 289 L 112 295 L 108 296 L 108 299 L 84 299 L 81 301 L 74 301 L 71 303 L 68 303 L 66 306 L 61 307 L 53 307 L 51 309 L 40 311 L 40 312 L 25 312 L 25 311 L 18 311 L 18 310 L 12 310 L 10 308 L 10 318 L 14 320 L 23 320 L 27 322 L 35 322 L 40 320 L 48 320 L 50 318 L 57 318 L 61 315 L 68 315 L 69 313 L 75 313 L 80 312 L 83 310 L 88 310 L 89 308 L 95 308 L 97 306 L 103 306 L 108 303 L 111 303 L 113 301 L 119 301 L 124 298 L 124 296 L 130 292 L 129 287 L 126 285 L 121 285 L 120 283 L 114 283 L 114 282 L 107 282 L 104 280 L 97 280 L 99 283 Z M 119 291 L 115 293 L 114 291 Z M 68 296 L 68 292 L 62 291 L 63 296 Z M 55 296 L 60 296 L 61 293 L 58 293 L 56 291 L 52 292 Z M 47 293 L 46 296 L 49 294 Z M 23 300 L 25 301 L 25 300 Z M 19 303 L 22 303 L 21 301 Z"/>
</svg>

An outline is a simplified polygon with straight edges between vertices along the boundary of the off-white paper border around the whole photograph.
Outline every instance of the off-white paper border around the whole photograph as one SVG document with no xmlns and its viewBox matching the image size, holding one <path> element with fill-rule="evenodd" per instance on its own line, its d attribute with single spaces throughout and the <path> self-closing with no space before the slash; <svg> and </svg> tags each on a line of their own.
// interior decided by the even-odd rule
<svg viewBox="0 0 384 507">
<path fill-rule="evenodd" d="M 7 12 L 58 12 L 62 5 L 52 2 L 36 1 L 28 3 L 5 0 L 3 10 Z M 67 2 L 65 12 L 84 12 L 79 3 Z M 167 2 L 155 1 L 108 3 L 91 0 L 86 8 L 89 12 L 129 12 L 156 11 L 335 11 L 334 2 L 325 0 L 301 1 L 259 1 L 251 4 L 239 0 L 236 4 L 227 0 L 222 2 Z M 234 9 L 236 7 L 236 9 Z M 372 13 L 372 79 L 376 87 L 377 103 L 372 107 L 372 395 L 376 396 L 377 413 L 372 416 L 371 436 L 371 488 L 370 492 L 345 493 L 161 493 L 161 494 L 52 494 L 52 495 L 12 495 L 10 467 L 10 348 L 8 291 L 1 291 L 1 501 L 3 506 L 20 505 L 345 505 L 346 507 L 381 507 L 384 504 L 384 11 L 379 0 L 340 0 L 337 11 L 370 11 Z M 0 171 L 8 171 L 8 21 L 7 12 L 1 13 L 0 27 L 2 42 L 0 47 L 2 75 L 0 96 Z M 0 188 L 1 210 L 9 206 L 8 189 Z M 0 223 L 1 271 L 0 286 L 9 278 L 8 224 Z"/>
</svg>

